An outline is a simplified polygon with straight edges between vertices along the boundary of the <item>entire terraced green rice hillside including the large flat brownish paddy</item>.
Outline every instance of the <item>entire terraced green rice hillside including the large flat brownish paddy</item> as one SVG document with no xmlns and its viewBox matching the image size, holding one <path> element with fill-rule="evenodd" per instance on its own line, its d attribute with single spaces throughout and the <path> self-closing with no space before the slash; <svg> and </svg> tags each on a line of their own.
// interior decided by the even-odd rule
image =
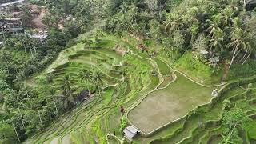
<svg viewBox="0 0 256 144">
<path fill-rule="evenodd" d="M 114 48 L 117 46 L 127 54 L 123 56 L 116 52 Z M 126 75 L 120 73 L 123 68 Z M 126 109 L 127 125 L 135 125 L 145 133 L 172 122 L 153 134 L 138 135 L 135 143 L 219 142 L 222 140 L 219 137 L 220 119 L 225 99 L 243 106 L 248 115 L 256 114 L 256 94 L 246 97 L 247 90 L 240 86 L 225 89 L 218 101 L 201 106 L 210 102 L 214 86 L 198 85 L 172 70 L 168 62 L 141 53 L 136 49 L 136 40 L 130 37 L 102 37 L 97 46 L 78 43 L 62 51 L 42 74 L 30 79 L 29 86 L 42 86 L 40 79 L 52 73 L 54 82 L 48 86 L 58 90 L 61 79 L 70 74 L 77 90 L 83 90 L 84 83 L 78 78 L 83 69 L 102 71 L 104 87 L 108 87 L 102 96 L 94 95 L 25 143 L 120 143 L 120 106 Z M 152 74 L 153 70 L 157 74 Z M 245 80 L 244 85 L 249 81 Z M 197 106 L 199 108 L 193 110 Z M 178 118 L 181 119 L 173 122 Z M 109 133 L 115 133 L 116 137 L 107 138 Z"/>
</svg>

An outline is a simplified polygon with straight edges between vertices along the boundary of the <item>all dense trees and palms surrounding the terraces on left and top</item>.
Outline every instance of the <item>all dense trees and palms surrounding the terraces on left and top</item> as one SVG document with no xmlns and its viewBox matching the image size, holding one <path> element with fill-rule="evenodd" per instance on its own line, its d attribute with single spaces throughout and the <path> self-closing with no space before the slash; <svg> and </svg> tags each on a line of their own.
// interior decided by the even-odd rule
<svg viewBox="0 0 256 144">
<path fill-rule="evenodd" d="M 207 50 L 229 66 L 244 64 L 254 58 L 256 12 L 246 10 L 246 1 L 30 2 L 46 6 L 49 10 L 50 14 L 43 19 L 49 38 L 42 45 L 25 35 L 5 35 L 5 46 L 0 49 L 0 97 L 4 96 L 0 127 L 1 130 L 12 127 L 13 131 L 3 135 L 0 133 L 1 141 L 23 141 L 74 106 L 74 80 L 69 75 L 64 77 L 59 90 L 46 90 L 46 86 L 53 81 L 54 76 L 51 75 L 46 78 L 46 86 L 38 89 L 26 86 L 24 79 L 42 71 L 61 50 L 71 45 L 72 38 L 90 30 L 94 23 L 102 19 L 106 20 L 106 31 L 119 35 L 126 31 L 140 38 L 151 38 L 161 43 L 167 53 Z M 66 20 L 69 15 L 73 16 L 70 21 Z M 62 30 L 58 29 L 59 24 L 63 25 Z M 101 94 L 101 72 L 82 70 L 80 77 L 81 82 L 88 84 L 91 93 L 98 91 Z"/>
</svg>

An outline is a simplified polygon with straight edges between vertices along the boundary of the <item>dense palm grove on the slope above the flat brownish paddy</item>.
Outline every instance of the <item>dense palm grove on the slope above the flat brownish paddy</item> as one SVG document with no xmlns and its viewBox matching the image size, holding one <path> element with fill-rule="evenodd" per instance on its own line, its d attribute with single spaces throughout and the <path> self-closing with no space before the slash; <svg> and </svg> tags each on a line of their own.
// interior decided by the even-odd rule
<svg viewBox="0 0 256 144">
<path fill-rule="evenodd" d="M 119 2 L 115 9 L 106 23 L 111 33 L 150 37 L 180 54 L 208 50 L 229 66 L 254 56 L 256 13 L 246 10 L 246 1 L 134 0 Z"/>
</svg>

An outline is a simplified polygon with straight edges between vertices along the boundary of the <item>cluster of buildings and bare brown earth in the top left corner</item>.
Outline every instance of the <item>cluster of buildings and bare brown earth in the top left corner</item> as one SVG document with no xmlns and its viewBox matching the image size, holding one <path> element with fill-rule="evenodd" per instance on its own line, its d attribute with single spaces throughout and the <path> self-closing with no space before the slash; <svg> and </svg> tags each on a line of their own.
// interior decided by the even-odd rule
<svg viewBox="0 0 256 144">
<path fill-rule="evenodd" d="M 32 20 L 24 22 L 24 7 L 29 8 Z M 29 5 L 26 0 L 6 0 L 0 2 L 0 39 L 2 44 L 5 34 L 26 34 L 29 38 L 38 39 L 44 42 L 48 37 L 46 26 L 42 24 L 42 18 L 46 14 L 46 9 L 42 6 Z"/>
</svg>

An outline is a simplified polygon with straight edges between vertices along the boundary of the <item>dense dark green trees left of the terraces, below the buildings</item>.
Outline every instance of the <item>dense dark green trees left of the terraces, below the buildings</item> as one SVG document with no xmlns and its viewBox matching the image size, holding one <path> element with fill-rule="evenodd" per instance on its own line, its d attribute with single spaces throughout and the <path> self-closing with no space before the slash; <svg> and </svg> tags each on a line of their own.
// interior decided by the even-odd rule
<svg viewBox="0 0 256 144">
<path fill-rule="evenodd" d="M 38 90 L 24 84 L 26 78 L 42 71 L 66 47 L 64 32 L 54 27 L 49 32 L 49 39 L 43 45 L 26 35 L 6 34 L 4 47 L 0 50 L 0 95 L 4 98 L 0 122 L 10 126 L 10 130 L 15 129 L 18 137 L 15 134 L 10 137 L 11 141 L 23 141 L 56 117 L 50 113 L 56 106 L 44 107 L 46 102 L 39 98 Z"/>
</svg>

